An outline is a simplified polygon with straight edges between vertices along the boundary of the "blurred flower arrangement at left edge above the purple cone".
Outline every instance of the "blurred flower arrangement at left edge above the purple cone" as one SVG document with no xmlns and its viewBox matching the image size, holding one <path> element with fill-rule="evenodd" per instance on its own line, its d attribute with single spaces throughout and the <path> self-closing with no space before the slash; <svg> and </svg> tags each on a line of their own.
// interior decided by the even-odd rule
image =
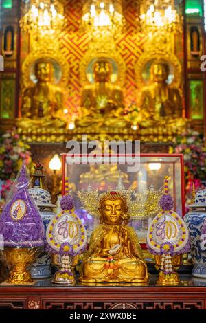
<svg viewBox="0 0 206 323">
<path fill-rule="evenodd" d="M 0 179 L 3 181 L 0 196 L 2 203 L 12 187 L 23 160 L 26 164 L 30 164 L 32 160 L 30 146 L 21 140 L 16 129 L 6 131 L 0 137 Z"/>
</svg>

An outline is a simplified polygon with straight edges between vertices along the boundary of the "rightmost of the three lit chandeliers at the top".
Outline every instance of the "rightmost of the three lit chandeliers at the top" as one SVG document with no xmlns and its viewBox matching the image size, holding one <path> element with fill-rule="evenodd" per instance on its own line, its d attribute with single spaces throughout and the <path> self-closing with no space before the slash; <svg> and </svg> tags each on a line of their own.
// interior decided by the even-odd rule
<svg viewBox="0 0 206 323">
<path fill-rule="evenodd" d="M 142 0 L 139 18 L 145 32 L 181 30 L 181 17 L 174 0 Z"/>
</svg>

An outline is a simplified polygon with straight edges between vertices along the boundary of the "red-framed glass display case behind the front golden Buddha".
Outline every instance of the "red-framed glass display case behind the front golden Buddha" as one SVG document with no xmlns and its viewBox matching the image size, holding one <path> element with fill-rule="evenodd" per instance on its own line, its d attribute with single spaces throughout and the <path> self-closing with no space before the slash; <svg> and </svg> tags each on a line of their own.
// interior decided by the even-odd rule
<svg viewBox="0 0 206 323">
<path fill-rule="evenodd" d="M 88 190 L 89 187 L 89 190 L 98 190 L 100 194 L 122 187 L 122 190 L 130 192 L 132 200 L 139 203 L 137 211 L 139 217 L 131 221 L 130 225 L 137 232 L 143 249 L 146 249 L 148 223 L 159 212 L 158 208 L 152 208 L 152 203 L 163 194 L 165 175 L 168 176 L 169 192 L 174 199 L 174 211 L 183 216 L 185 214 L 183 155 L 141 154 L 138 170 L 131 172 L 128 171 L 128 164 L 121 164 L 118 159 L 116 164 L 89 164 L 85 161 L 84 164 L 68 164 L 67 154 L 62 154 L 62 194 L 72 192 L 76 212 L 87 227 L 88 236 L 91 236 L 99 221 L 82 207 L 78 191 Z M 148 209 L 150 213 L 147 214 Z"/>
</svg>

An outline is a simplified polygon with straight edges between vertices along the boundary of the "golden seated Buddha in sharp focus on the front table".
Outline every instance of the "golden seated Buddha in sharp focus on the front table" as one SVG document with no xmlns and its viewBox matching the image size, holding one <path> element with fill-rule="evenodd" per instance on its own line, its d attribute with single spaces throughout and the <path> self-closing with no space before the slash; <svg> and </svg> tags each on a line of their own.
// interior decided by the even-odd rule
<svg viewBox="0 0 206 323">
<path fill-rule="evenodd" d="M 99 202 L 100 226 L 91 235 L 80 267 L 80 282 L 148 281 L 137 235 L 127 225 L 126 197 L 107 192 Z"/>
</svg>

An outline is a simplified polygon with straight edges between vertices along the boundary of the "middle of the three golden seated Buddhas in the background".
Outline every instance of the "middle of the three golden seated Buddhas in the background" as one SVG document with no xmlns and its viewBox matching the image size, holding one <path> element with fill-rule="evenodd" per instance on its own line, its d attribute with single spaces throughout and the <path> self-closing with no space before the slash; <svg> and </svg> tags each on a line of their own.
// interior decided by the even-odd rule
<svg viewBox="0 0 206 323">
<path fill-rule="evenodd" d="M 84 87 L 77 126 L 124 126 L 122 89 L 111 82 L 112 66 L 100 58 L 93 65 L 94 82 Z M 115 122 L 115 123 L 114 123 Z"/>
</svg>

